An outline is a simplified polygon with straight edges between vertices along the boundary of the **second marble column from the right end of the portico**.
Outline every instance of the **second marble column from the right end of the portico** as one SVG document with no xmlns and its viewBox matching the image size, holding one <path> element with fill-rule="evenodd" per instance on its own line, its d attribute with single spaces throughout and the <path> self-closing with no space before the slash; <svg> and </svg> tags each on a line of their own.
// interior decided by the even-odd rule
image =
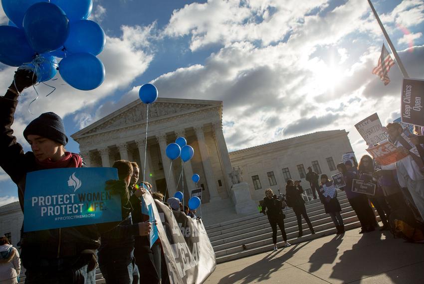
<svg viewBox="0 0 424 284">
<path fill-rule="evenodd" d="M 209 194 L 211 196 L 210 201 L 220 200 L 218 189 L 216 187 L 216 181 L 213 174 L 212 163 L 209 159 L 209 152 L 206 146 L 205 134 L 203 127 L 195 127 L 196 136 L 199 143 L 200 155 L 202 157 L 203 169 L 205 170 L 206 182 L 208 184 Z"/>
</svg>

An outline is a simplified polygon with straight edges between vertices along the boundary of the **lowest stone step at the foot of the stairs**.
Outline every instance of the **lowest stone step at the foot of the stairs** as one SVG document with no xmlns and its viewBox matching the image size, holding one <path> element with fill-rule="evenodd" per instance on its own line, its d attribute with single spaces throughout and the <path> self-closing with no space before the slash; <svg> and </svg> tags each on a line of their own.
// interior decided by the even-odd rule
<svg viewBox="0 0 424 284">
<path fill-rule="evenodd" d="M 354 221 L 351 223 L 345 223 L 345 229 L 346 230 L 351 230 L 351 229 L 355 229 L 361 227 L 361 224 L 359 223 L 359 221 Z M 324 237 L 327 235 L 332 235 L 336 233 L 336 228 L 334 228 L 334 224 L 333 227 L 329 227 L 325 230 L 322 230 L 320 232 L 317 232 L 315 235 L 307 235 L 307 236 L 303 236 L 301 238 L 291 238 L 291 239 L 287 239 L 287 241 L 292 244 L 298 244 L 298 243 L 302 243 L 302 242 L 306 242 L 312 239 L 316 239 L 316 238 L 320 238 L 320 237 Z M 279 248 L 282 247 L 282 237 L 280 235 L 279 238 L 277 238 L 277 245 Z M 287 248 L 287 250 L 289 250 L 290 248 Z M 235 253 L 231 253 L 231 254 L 227 254 L 221 257 L 217 257 L 216 258 L 216 263 L 224 263 L 224 262 L 228 262 L 231 260 L 236 260 L 239 258 L 244 258 L 247 256 L 251 256 L 251 255 L 256 255 L 259 253 L 264 253 L 264 252 L 269 252 L 272 250 L 272 240 L 270 240 L 269 238 L 269 243 L 263 244 L 261 246 L 257 246 L 254 248 L 250 248 L 250 249 L 246 249 L 240 252 L 235 252 Z"/>
</svg>

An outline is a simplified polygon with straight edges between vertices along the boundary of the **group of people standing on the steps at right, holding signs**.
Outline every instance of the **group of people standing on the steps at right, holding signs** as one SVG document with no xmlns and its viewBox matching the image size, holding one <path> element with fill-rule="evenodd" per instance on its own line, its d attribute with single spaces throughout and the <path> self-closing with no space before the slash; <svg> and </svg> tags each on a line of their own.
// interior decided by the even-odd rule
<svg viewBox="0 0 424 284">
<path fill-rule="evenodd" d="M 414 135 L 410 138 L 411 143 L 417 147 L 418 156 L 411 151 L 413 145 L 407 149 L 400 143 L 401 135 L 404 132 L 401 124 L 389 123 L 386 129 L 388 141 L 395 144 L 397 151 L 405 154 L 406 157 L 389 165 L 379 165 L 370 155 L 363 155 L 359 164 L 354 157 L 344 163 L 341 162 L 336 167 L 343 175 L 345 186 L 340 187 L 339 190 L 346 192 L 346 197 L 358 216 L 361 224 L 360 234 L 380 228 L 380 231 L 390 230 L 397 236 L 415 241 L 414 234 L 418 232 L 417 229 L 420 230 L 419 232 L 424 232 L 424 168 L 419 166 L 424 161 L 424 128 L 415 127 Z M 418 159 L 422 162 L 420 163 Z M 353 190 L 355 179 L 373 184 L 375 186 L 374 194 Z M 337 229 L 337 234 L 345 233 L 343 218 L 340 214 L 342 209 L 337 199 L 337 188 L 335 188 L 333 180 L 329 180 L 326 174 L 321 174 L 319 177 L 311 167 L 308 167 L 306 180 L 311 186 L 315 199 L 317 198 L 315 190 L 317 191 L 318 197 L 324 205 L 325 213 L 330 215 Z M 331 195 L 326 192 L 331 192 Z M 274 251 L 277 250 L 277 224 L 283 236 L 283 247 L 290 246 L 287 243 L 284 228 L 283 209 L 286 206 L 292 207 L 296 215 L 299 228 L 298 237 L 303 236 L 301 216 L 305 219 L 311 234 L 315 234 L 306 212 L 302 193 L 300 181 L 291 179 L 287 180 L 285 198 L 275 195 L 270 188 L 265 189 L 261 212 L 268 215 L 268 221 L 272 228 Z M 380 217 L 382 227 L 378 225 L 374 209 Z M 397 228 L 395 220 L 405 220 L 408 226 Z M 409 232 L 402 232 L 402 230 L 407 230 L 405 228 L 410 228 Z M 422 238 L 422 235 L 419 235 L 418 238 Z"/>
</svg>

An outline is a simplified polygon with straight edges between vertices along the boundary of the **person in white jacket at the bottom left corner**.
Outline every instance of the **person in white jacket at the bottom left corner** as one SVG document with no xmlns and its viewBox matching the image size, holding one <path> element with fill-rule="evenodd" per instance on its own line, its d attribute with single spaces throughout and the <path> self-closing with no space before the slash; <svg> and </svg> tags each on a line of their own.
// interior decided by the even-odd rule
<svg viewBox="0 0 424 284">
<path fill-rule="evenodd" d="M 16 284 L 20 274 L 18 251 L 10 245 L 9 240 L 0 237 L 0 284 Z"/>
</svg>

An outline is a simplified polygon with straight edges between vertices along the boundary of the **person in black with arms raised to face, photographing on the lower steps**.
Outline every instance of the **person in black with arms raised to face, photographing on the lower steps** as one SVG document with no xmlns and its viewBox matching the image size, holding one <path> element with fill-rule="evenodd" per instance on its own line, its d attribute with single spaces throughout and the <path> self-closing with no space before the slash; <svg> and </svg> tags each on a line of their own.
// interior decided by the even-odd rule
<svg viewBox="0 0 424 284">
<path fill-rule="evenodd" d="M 293 208 L 294 214 L 297 218 L 297 226 L 299 227 L 298 237 L 303 236 L 302 229 L 302 217 L 305 219 L 306 223 L 309 226 L 309 230 L 312 234 L 315 234 L 314 228 L 312 227 L 311 221 L 309 221 L 308 214 L 306 213 L 305 200 L 302 198 L 303 188 L 300 185 L 300 180 L 287 180 L 286 185 L 286 199 L 287 205 Z"/>
</svg>

